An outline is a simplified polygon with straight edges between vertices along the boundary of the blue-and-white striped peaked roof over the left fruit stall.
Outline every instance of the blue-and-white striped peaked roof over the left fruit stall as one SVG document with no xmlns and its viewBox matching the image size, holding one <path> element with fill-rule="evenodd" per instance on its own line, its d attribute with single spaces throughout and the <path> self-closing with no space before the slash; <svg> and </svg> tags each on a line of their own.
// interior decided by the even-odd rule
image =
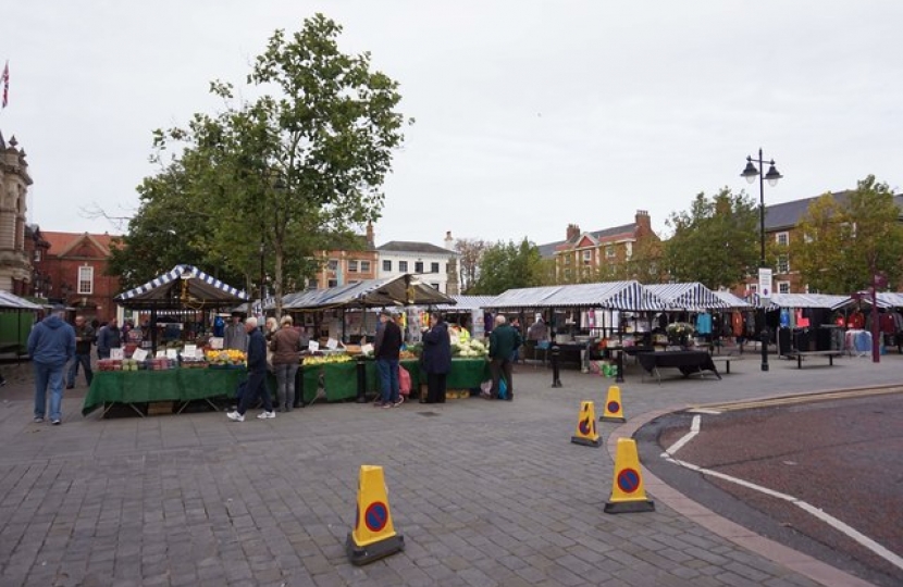
<svg viewBox="0 0 903 587">
<path fill-rule="evenodd" d="M 193 265 L 176 265 L 144 285 L 119 294 L 113 300 L 134 310 L 185 307 L 200 310 L 242 303 L 248 296 Z"/>
</svg>

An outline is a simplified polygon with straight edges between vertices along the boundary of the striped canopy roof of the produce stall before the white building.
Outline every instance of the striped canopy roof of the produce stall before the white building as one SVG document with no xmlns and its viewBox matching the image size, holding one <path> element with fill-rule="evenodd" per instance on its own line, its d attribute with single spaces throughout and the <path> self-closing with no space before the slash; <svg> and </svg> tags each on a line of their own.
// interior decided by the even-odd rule
<svg viewBox="0 0 903 587">
<path fill-rule="evenodd" d="M 329 289 L 311 289 L 283 297 L 285 310 L 318 310 L 358 307 L 455 304 L 455 300 L 410 274 L 364 279 Z"/>
</svg>

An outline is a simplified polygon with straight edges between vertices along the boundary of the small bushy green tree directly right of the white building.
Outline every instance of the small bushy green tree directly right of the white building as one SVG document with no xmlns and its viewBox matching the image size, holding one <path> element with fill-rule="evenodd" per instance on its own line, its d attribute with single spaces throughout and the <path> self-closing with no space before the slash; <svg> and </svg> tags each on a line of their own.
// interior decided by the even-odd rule
<svg viewBox="0 0 903 587">
<path fill-rule="evenodd" d="M 542 285 L 543 266 L 539 247 L 527 238 L 519 245 L 498 241 L 483 251 L 472 292 L 497 296 L 508 289 Z"/>
</svg>

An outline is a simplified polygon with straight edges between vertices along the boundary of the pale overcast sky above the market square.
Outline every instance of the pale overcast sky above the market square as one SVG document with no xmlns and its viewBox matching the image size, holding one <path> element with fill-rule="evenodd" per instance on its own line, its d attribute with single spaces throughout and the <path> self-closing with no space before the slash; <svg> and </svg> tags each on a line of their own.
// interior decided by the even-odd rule
<svg viewBox="0 0 903 587">
<path fill-rule="evenodd" d="M 277 28 L 317 12 L 400 84 L 376 245 L 565 239 L 745 190 L 780 203 L 903 184 L 903 2 L 891 0 L 45 0 L 7 2 L 0 132 L 27 153 L 28 222 L 121 234 L 156 128 L 223 104 Z M 103 215 L 99 215 L 102 211 Z"/>
</svg>

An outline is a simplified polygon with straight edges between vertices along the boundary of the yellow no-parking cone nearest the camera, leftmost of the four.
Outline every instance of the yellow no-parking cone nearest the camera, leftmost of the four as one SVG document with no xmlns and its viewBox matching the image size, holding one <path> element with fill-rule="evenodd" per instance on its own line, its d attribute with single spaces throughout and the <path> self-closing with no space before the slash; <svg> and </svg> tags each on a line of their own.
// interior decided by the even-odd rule
<svg viewBox="0 0 903 587">
<path fill-rule="evenodd" d="M 348 533 L 345 552 L 352 564 L 361 565 L 405 550 L 405 537 L 395 533 L 383 467 L 360 465 L 355 529 Z"/>
</svg>

